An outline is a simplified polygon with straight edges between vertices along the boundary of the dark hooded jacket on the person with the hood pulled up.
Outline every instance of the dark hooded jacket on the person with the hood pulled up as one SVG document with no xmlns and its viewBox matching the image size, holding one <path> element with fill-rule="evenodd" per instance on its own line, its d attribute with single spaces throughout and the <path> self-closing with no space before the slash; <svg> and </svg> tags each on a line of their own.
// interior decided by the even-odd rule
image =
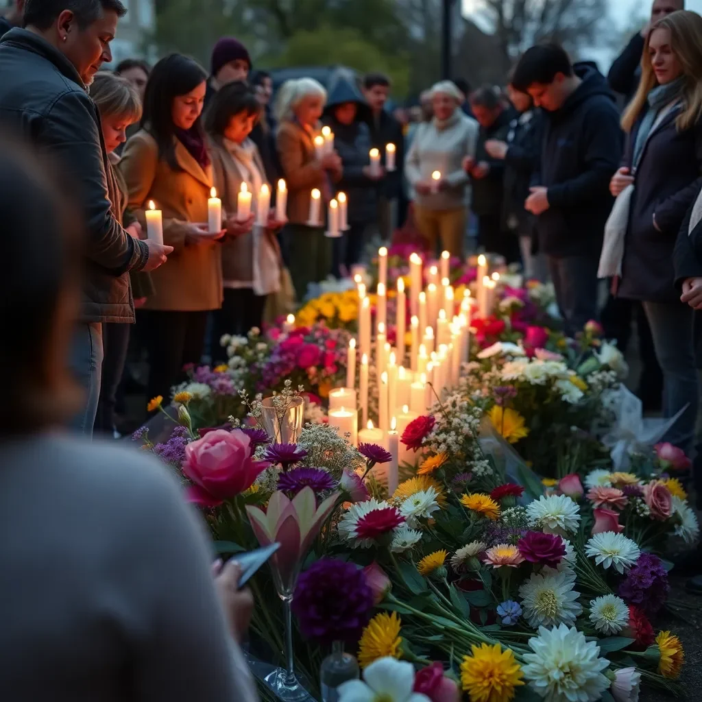
<svg viewBox="0 0 702 702">
<path fill-rule="evenodd" d="M 334 108 L 345 102 L 357 104 L 353 124 L 340 124 L 334 117 Z M 370 164 L 369 152 L 372 148 L 371 131 L 364 121 L 368 112 L 361 93 L 341 78 L 331 88 L 322 120 L 334 133 L 334 149 L 343 166 L 343 175 L 336 187 L 348 198 L 348 220 L 354 225 L 368 224 L 376 217 L 378 182 L 366 178 L 363 173 L 363 169 Z"/>
</svg>

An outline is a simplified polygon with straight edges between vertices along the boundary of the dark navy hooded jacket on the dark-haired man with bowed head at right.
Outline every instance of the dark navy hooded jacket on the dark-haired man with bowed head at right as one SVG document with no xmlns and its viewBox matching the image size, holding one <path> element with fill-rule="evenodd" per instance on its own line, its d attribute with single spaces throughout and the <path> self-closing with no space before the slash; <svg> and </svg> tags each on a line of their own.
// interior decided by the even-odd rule
<svg viewBox="0 0 702 702">
<path fill-rule="evenodd" d="M 574 66 L 582 82 L 544 117 L 541 164 L 533 185 L 548 188 L 549 208 L 536 219 L 548 256 L 599 256 L 614 198 L 609 181 L 620 165 L 623 133 L 614 94 L 592 63 Z"/>
</svg>

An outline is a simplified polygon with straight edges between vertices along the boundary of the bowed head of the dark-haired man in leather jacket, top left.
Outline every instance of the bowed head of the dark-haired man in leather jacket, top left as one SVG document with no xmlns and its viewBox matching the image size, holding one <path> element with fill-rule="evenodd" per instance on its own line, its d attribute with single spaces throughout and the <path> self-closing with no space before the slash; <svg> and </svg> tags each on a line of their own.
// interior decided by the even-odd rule
<svg viewBox="0 0 702 702">
<path fill-rule="evenodd" d="M 22 22 L 65 55 L 88 86 L 112 61 L 110 42 L 124 15 L 120 0 L 25 0 Z"/>
</svg>

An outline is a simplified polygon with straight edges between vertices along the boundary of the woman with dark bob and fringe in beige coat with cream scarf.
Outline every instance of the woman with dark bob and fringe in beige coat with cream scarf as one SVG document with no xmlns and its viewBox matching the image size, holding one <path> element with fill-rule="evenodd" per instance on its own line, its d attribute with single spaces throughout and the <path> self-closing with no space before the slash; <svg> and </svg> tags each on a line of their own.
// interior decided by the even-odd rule
<svg viewBox="0 0 702 702">
<path fill-rule="evenodd" d="M 267 186 L 269 192 L 275 187 L 268 182 L 256 144 L 249 138 L 262 109 L 252 88 L 230 83 L 212 98 L 205 118 L 215 185 L 227 214 L 227 237 L 222 246 L 224 302 L 215 314 L 213 350 L 218 350 L 224 334 L 246 336 L 253 327 L 260 328 L 266 297 L 280 289 L 278 223 L 270 211 L 265 227 L 254 224 L 253 216 L 245 222 L 237 218 L 241 183 L 253 193 L 254 212 L 261 187 Z"/>
</svg>

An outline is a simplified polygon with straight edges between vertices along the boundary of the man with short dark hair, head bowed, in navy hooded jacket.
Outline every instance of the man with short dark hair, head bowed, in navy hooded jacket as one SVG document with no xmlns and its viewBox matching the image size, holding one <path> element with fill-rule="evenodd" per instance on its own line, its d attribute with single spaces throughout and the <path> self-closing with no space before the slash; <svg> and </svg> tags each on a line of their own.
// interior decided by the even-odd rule
<svg viewBox="0 0 702 702">
<path fill-rule="evenodd" d="M 545 111 L 540 164 L 524 207 L 536 216 L 564 328 L 575 336 L 598 316 L 597 263 L 623 143 L 619 112 L 594 65 L 572 65 L 557 44 L 524 53 L 512 86 Z"/>
</svg>

